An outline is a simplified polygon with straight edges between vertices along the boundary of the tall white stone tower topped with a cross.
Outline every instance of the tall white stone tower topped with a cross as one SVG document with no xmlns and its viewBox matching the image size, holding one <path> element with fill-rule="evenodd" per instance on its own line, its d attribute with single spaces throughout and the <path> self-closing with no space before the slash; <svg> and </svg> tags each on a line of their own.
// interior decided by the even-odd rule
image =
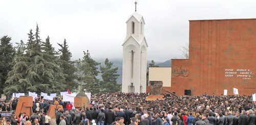
<svg viewBox="0 0 256 125">
<path fill-rule="evenodd" d="M 127 19 L 126 24 L 126 38 L 122 44 L 122 92 L 146 92 L 145 22 L 143 16 L 135 10 Z"/>
</svg>

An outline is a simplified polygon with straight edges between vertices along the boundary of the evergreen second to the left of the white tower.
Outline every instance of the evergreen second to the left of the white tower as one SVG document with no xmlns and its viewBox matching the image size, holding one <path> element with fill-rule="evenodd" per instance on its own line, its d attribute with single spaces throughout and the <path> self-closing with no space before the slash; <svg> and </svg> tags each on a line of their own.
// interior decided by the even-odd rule
<svg viewBox="0 0 256 125">
<path fill-rule="evenodd" d="M 96 62 L 89 51 L 83 51 L 83 59 L 82 59 L 82 66 L 79 67 L 79 70 L 82 70 L 83 77 L 82 82 L 84 83 L 83 88 L 86 88 L 88 92 L 98 93 L 99 92 L 99 80 L 96 78 L 98 76 L 98 68 L 97 66 L 100 65 L 99 62 Z"/>
</svg>

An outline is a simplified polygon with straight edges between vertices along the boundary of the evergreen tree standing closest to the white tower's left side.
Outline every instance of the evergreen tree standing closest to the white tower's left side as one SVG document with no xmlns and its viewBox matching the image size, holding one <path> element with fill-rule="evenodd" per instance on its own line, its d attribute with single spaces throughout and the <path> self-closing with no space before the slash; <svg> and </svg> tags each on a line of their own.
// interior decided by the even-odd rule
<svg viewBox="0 0 256 125">
<path fill-rule="evenodd" d="M 112 68 L 113 62 L 105 59 L 105 66 L 100 66 L 102 81 L 100 84 L 101 92 L 117 92 L 121 90 L 121 84 L 117 84 L 118 67 Z"/>
</svg>

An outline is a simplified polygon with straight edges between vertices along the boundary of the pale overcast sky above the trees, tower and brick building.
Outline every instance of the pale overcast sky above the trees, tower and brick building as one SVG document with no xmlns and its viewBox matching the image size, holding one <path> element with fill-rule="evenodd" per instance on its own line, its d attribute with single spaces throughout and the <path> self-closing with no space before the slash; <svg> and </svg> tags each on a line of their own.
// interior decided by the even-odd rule
<svg viewBox="0 0 256 125">
<path fill-rule="evenodd" d="M 0 37 L 12 37 L 12 43 L 27 42 L 29 29 L 55 47 L 66 38 L 72 59 L 89 50 L 92 57 L 122 58 L 126 20 L 135 11 L 132 0 L 0 0 Z M 179 56 L 179 48 L 188 42 L 189 21 L 198 19 L 255 18 L 256 1 L 152 1 L 137 0 L 137 12 L 145 20 L 147 59 L 165 61 Z M 15 45 L 15 44 L 14 44 Z"/>
</svg>

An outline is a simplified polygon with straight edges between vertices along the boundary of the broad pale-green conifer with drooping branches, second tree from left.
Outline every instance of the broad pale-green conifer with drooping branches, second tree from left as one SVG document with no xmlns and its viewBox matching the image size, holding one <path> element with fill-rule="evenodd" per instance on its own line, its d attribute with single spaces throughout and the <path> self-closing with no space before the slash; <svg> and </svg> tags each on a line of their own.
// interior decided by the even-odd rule
<svg viewBox="0 0 256 125">
<path fill-rule="evenodd" d="M 32 57 L 35 56 L 35 52 L 32 51 L 35 39 L 34 34 L 32 33 L 32 29 L 29 31 L 28 38 L 29 39 L 25 50 L 26 53 L 20 53 L 14 58 L 14 61 L 12 62 L 14 66 L 8 73 L 8 78 L 6 80 L 7 86 L 4 88 L 4 92 L 36 91 L 35 88 L 31 88 L 34 82 L 31 82 L 28 74 L 28 69 L 32 62 Z"/>
</svg>

